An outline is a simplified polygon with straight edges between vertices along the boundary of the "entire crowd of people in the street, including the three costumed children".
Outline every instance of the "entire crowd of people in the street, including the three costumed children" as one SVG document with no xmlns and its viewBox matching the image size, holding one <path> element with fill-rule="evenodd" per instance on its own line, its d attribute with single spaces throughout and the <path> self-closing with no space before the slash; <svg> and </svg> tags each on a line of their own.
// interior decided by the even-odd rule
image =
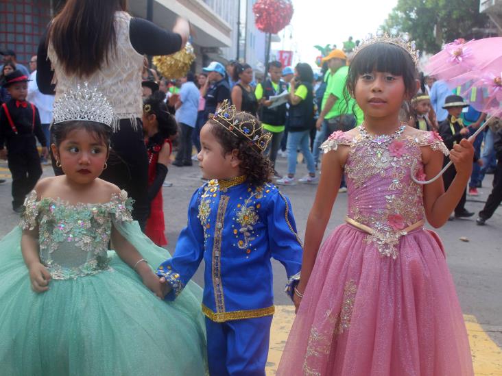
<svg viewBox="0 0 502 376">
<path fill-rule="evenodd" d="M 349 38 L 320 72 L 272 61 L 258 80 L 245 62 L 213 61 L 161 77 L 147 56 L 182 49 L 188 21 L 165 31 L 126 1 L 105 4 L 68 0 L 31 74 L 3 51 L 0 157 L 21 213 L 0 241 L 4 371 L 264 375 L 275 258 L 298 313 L 278 375 L 473 375 L 444 250 L 424 225 L 473 216 L 466 195 L 486 173 L 477 224 L 492 216 L 501 123 L 468 142 L 486 114 L 433 77 L 418 88 L 416 52 L 389 40 Z M 414 181 L 449 161 L 427 189 Z M 171 256 L 162 186 L 170 166 L 194 162 L 204 184 Z M 55 176 L 40 179 L 43 163 Z M 318 185 L 303 244 L 277 188 L 297 183 Z M 347 191 L 346 223 L 322 244 Z M 202 260 L 203 289 L 191 282 Z"/>
</svg>

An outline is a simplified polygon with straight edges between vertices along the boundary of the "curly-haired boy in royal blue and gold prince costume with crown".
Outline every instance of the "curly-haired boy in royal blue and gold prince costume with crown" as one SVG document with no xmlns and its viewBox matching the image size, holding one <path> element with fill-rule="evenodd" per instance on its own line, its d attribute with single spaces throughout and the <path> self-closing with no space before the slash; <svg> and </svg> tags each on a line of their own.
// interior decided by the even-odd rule
<svg viewBox="0 0 502 376">
<path fill-rule="evenodd" d="M 200 140 L 200 167 L 213 180 L 193 194 L 188 225 L 157 274 L 172 300 L 204 259 L 211 375 L 265 375 L 274 314 L 270 258 L 285 266 L 290 297 L 300 279 L 302 245 L 291 203 L 270 183 L 272 162 L 263 157 L 270 134 L 254 116 L 224 103 Z"/>
</svg>

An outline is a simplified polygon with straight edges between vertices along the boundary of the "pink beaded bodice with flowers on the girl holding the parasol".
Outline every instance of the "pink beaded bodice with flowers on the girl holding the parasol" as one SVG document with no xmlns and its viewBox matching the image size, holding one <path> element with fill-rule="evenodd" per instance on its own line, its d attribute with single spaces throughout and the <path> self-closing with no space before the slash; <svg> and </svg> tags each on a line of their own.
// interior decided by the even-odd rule
<svg viewBox="0 0 502 376">
<path fill-rule="evenodd" d="M 337 131 L 322 149 L 336 150 L 338 145 L 350 147 L 345 165 L 348 217 L 376 231 L 377 236 L 368 235 L 368 242 L 374 242 L 382 255 L 396 258 L 403 230 L 424 218 L 422 186 L 411 179 L 411 165 L 418 162 L 415 175 L 425 180 L 420 147 L 445 155 L 448 149 L 437 133 L 429 131 L 372 137 L 361 129 L 354 138 Z"/>
</svg>

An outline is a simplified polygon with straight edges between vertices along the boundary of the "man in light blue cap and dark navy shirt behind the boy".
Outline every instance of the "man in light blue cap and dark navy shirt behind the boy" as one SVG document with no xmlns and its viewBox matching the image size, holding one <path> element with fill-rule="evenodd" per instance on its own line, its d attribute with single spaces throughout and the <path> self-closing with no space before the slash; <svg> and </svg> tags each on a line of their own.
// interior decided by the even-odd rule
<svg viewBox="0 0 502 376">
<path fill-rule="evenodd" d="M 204 99 L 206 99 L 206 104 L 204 105 L 204 123 L 206 123 L 209 114 L 214 114 L 225 99 L 229 102 L 232 99 L 230 98 L 230 85 L 225 79 L 225 67 L 223 64 L 211 62 L 211 64 L 202 68 L 202 71 L 207 73 L 208 82 L 211 83 L 206 92 L 201 93 L 204 95 Z"/>
</svg>

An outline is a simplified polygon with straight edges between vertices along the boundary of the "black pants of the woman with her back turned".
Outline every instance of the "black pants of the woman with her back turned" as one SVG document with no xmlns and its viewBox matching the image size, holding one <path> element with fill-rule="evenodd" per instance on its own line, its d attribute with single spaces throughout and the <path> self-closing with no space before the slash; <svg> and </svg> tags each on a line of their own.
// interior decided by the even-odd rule
<svg viewBox="0 0 502 376">
<path fill-rule="evenodd" d="M 138 221 L 141 229 L 145 229 L 150 215 L 147 194 L 148 155 L 141 119 L 136 118 L 136 121 L 138 125 L 134 130 L 129 119 L 121 119 L 120 129 L 113 133 L 110 139 L 112 149 L 106 162 L 108 167 L 100 177 L 128 192 L 128 196 L 134 200 L 132 218 Z M 56 175 L 62 175 L 63 172 L 61 168 L 56 167 L 54 158 L 52 166 Z"/>
</svg>

